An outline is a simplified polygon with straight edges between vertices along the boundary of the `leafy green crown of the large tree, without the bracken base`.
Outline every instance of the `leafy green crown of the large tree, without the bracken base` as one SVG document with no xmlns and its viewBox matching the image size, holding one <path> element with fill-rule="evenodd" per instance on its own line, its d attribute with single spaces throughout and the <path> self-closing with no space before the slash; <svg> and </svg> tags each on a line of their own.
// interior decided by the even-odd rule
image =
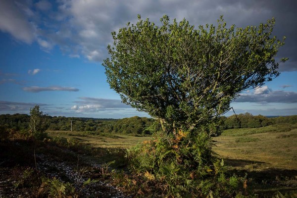
<svg viewBox="0 0 297 198">
<path fill-rule="evenodd" d="M 185 19 L 170 24 L 166 15 L 160 27 L 138 19 L 112 32 L 102 65 L 122 101 L 159 118 L 168 133 L 215 123 L 240 92 L 279 75 L 275 56 L 285 37 L 271 36 L 274 18 L 236 29 L 226 28 L 222 16 L 217 27 L 198 29 Z"/>
</svg>

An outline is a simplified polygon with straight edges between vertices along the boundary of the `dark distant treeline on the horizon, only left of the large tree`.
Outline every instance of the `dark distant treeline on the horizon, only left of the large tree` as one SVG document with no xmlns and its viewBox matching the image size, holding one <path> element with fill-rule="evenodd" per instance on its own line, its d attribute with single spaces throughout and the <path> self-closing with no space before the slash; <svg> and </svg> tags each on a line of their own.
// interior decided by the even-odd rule
<svg viewBox="0 0 297 198">
<path fill-rule="evenodd" d="M 27 129 L 30 116 L 26 114 L 0 115 L 0 126 L 15 130 Z M 160 128 L 153 118 L 134 116 L 123 119 L 76 118 L 49 116 L 49 128 L 52 131 L 96 131 L 104 133 L 151 134 Z"/>
</svg>

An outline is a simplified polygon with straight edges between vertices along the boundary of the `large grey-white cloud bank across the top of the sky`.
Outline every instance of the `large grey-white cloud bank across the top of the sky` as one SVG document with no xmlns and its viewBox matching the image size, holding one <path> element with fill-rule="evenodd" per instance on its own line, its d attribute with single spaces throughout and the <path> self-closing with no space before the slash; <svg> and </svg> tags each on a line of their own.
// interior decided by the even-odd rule
<svg viewBox="0 0 297 198">
<path fill-rule="evenodd" d="M 237 27 L 275 17 L 273 34 L 287 37 L 279 56 L 290 58 L 280 71 L 297 71 L 296 7 L 297 1 L 292 0 L 1 0 L 0 30 L 28 44 L 37 42 L 45 50 L 58 46 L 71 57 L 102 61 L 108 55 L 106 46 L 112 43 L 110 33 L 127 22 L 135 23 L 137 14 L 157 25 L 167 14 L 178 21 L 186 18 L 195 26 L 216 24 L 224 15 L 227 26 Z"/>
</svg>

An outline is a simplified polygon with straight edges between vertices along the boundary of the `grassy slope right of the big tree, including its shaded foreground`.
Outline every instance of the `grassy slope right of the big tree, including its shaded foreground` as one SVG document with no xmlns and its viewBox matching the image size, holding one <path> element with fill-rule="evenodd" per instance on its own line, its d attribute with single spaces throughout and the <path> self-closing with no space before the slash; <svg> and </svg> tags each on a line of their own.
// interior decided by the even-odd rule
<svg viewBox="0 0 297 198">
<path fill-rule="evenodd" d="M 229 129 L 214 140 L 226 164 L 252 178 L 250 188 L 259 197 L 277 191 L 297 197 L 297 124 Z"/>
</svg>

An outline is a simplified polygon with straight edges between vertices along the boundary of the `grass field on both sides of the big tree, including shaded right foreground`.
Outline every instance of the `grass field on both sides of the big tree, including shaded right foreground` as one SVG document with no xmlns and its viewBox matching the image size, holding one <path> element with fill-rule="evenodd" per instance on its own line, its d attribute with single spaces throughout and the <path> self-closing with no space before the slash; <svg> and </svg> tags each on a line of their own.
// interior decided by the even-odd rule
<svg viewBox="0 0 297 198">
<path fill-rule="evenodd" d="M 51 137 L 79 140 L 94 148 L 131 148 L 149 140 L 123 134 L 92 135 L 86 132 L 48 131 Z M 250 179 L 258 197 L 269 198 L 278 191 L 297 197 L 297 124 L 261 128 L 228 129 L 213 138 L 230 174 Z M 113 158 L 114 159 L 114 158 Z M 295 192 L 295 194 L 294 194 Z"/>
</svg>

